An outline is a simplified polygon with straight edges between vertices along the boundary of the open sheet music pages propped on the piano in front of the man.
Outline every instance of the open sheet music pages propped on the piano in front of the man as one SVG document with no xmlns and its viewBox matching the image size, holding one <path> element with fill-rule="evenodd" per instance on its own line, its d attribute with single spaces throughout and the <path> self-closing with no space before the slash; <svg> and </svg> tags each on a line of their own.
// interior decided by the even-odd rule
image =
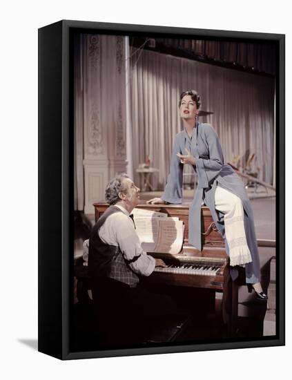
<svg viewBox="0 0 292 380">
<path fill-rule="evenodd" d="M 184 242 L 184 223 L 166 213 L 134 209 L 136 231 L 146 252 L 178 254 Z"/>
</svg>

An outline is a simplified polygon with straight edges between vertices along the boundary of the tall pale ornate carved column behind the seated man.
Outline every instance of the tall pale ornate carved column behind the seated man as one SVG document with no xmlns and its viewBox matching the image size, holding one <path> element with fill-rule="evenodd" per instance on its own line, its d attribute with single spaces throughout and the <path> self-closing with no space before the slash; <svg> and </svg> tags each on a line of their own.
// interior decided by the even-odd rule
<svg viewBox="0 0 292 380">
<path fill-rule="evenodd" d="M 106 184 L 126 171 L 124 37 L 87 35 L 84 70 L 85 213 Z"/>
</svg>

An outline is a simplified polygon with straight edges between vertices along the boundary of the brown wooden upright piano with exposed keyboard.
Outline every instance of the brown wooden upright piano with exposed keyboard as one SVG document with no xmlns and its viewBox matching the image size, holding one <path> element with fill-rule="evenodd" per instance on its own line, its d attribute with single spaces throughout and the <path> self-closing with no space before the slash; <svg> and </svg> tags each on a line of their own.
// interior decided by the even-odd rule
<svg viewBox="0 0 292 380">
<path fill-rule="evenodd" d="M 151 254 L 162 258 L 168 267 L 157 267 L 144 281 L 157 285 L 212 289 L 215 292 L 215 313 L 226 324 L 228 336 L 233 336 L 237 326 L 237 285 L 231 280 L 228 256 L 224 240 L 217 231 L 208 207 L 202 207 L 202 251 L 188 244 L 188 209 L 190 204 L 147 205 L 140 203 L 138 209 L 167 213 L 184 222 L 184 243 L 176 255 Z M 106 211 L 106 203 L 95 203 L 95 221 Z"/>
</svg>

